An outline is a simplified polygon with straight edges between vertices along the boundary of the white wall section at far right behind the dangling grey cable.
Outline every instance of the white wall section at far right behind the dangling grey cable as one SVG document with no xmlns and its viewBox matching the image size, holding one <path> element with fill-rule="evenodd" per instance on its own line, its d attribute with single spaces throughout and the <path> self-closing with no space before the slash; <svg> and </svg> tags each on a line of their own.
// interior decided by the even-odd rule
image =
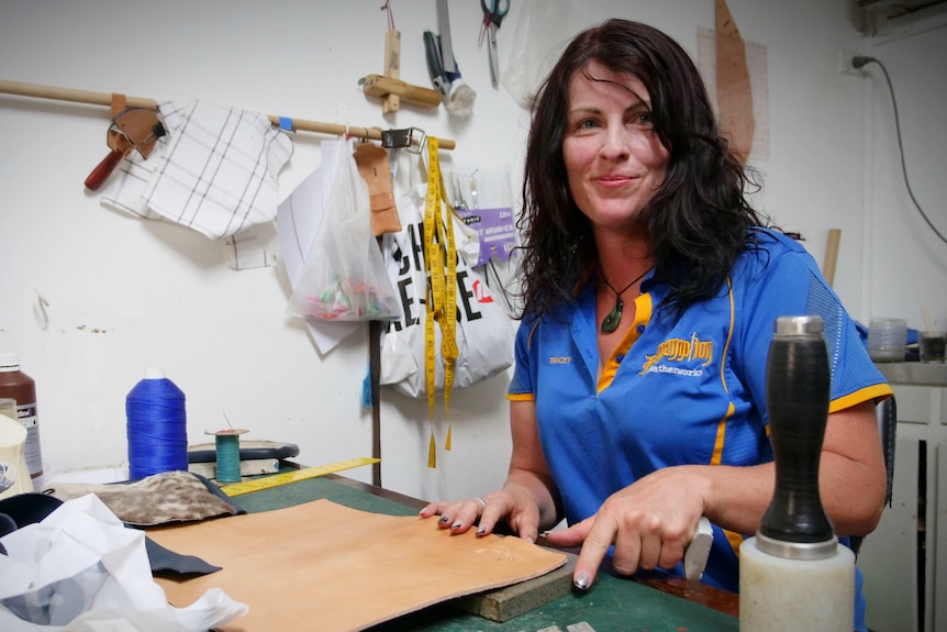
<svg viewBox="0 0 947 632">
<path fill-rule="evenodd" d="M 872 38 L 869 54 L 891 77 L 901 122 L 910 190 L 927 219 L 947 239 L 947 14 L 890 26 Z M 911 200 L 901 165 L 894 104 L 884 73 L 865 67 L 866 242 L 868 310 L 925 326 L 926 308 L 936 326 L 947 328 L 947 243 Z"/>
</svg>

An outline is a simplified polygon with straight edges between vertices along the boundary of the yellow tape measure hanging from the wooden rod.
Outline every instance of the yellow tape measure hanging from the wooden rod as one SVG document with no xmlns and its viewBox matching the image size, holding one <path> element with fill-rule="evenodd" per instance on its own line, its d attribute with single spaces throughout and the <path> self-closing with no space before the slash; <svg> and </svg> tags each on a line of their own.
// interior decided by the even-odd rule
<svg viewBox="0 0 947 632">
<path fill-rule="evenodd" d="M 447 213 L 444 213 L 444 209 Z M 444 359 L 444 411 L 447 415 L 447 441 L 450 450 L 450 389 L 454 386 L 454 363 L 457 361 L 457 248 L 454 245 L 454 208 L 447 201 L 437 138 L 427 136 L 427 197 L 424 209 L 424 267 L 431 282 L 424 322 L 424 373 L 427 382 L 427 410 L 431 420 L 431 442 L 427 467 L 437 465 L 434 441 L 434 401 L 437 375 L 434 323 L 441 326 L 441 356 Z"/>
</svg>

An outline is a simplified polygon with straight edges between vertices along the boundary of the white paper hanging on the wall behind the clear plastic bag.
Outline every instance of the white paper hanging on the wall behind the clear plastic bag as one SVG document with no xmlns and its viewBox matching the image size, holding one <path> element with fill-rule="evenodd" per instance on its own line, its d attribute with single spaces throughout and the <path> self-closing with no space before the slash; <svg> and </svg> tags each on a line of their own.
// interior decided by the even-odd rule
<svg viewBox="0 0 947 632">
<path fill-rule="evenodd" d="M 322 165 L 279 204 L 276 224 L 290 284 L 294 284 L 302 271 L 310 244 L 325 214 L 326 200 L 335 177 L 335 152 L 345 151 L 348 146 L 344 140 L 323 141 Z M 316 318 L 307 318 L 305 324 L 320 353 L 328 353 L 363 325 L 355 321 L 326 322 Z"/>
</svg>

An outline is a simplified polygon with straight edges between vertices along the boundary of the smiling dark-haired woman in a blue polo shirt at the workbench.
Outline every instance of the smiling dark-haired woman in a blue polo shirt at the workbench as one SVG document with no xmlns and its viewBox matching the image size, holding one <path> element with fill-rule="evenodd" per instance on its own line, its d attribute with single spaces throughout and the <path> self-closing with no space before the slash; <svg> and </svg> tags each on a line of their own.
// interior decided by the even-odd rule
<svg viewBox="0 0 947 632">
<path fill-rule="evenodd" d="M 747 184 L 677 43 L 623 20 L 570 43 L 538 93 L 526 154 L 509 476 L 423 517 L 531 541 L 565 518 L 547 542 L 581 545 L 584 589 L 613 545 L 619 573 L 680 573 L 705 515 L 703 580 L 736 591 L 736 551 L 772 499 L 773 324 L 815 314 L 833 358 L 823 505 L 840 536 L 874 529 L 885 491 L 874 403 L 891 389 L 813 258 L 764 228 Z"/>
</svg>

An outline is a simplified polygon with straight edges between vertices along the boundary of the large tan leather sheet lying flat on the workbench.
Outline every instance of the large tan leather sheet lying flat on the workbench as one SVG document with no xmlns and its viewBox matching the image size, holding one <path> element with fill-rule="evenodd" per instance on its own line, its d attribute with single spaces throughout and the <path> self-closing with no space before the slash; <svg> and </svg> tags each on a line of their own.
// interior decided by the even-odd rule
<svg viewBox="0 0 947 632">
<path fill-rule="evenodd" d="M 148 530 L 158 544 L 223 570 L 157 579 L 177 607 L 212 587 L 249 606 L 227 632 L 364 630 L 453 597 L 538 577 L 566 555 L 475 530 L 450 535 L 436 519 L 305 505 Z"/>
</svg>

